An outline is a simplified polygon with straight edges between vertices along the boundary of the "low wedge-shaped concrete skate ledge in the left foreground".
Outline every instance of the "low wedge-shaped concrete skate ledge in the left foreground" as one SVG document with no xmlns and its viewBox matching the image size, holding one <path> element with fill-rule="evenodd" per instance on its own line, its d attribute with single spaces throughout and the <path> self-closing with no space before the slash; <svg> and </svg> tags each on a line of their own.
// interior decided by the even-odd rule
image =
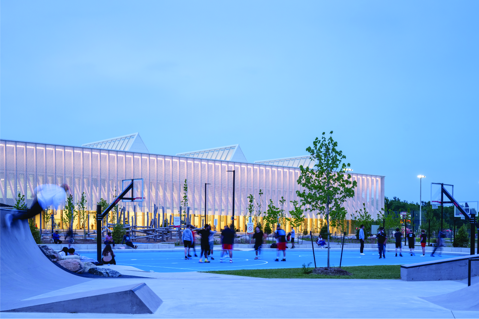
<svg viewBox="0 0 479 319">
<path fill-rule="evenodd" d="M 154 313 L 163 301 L 145 283 L 25 300 L 2 312 Z M 20 306 L 20 307 L 19 307 Z"/>
</svg>

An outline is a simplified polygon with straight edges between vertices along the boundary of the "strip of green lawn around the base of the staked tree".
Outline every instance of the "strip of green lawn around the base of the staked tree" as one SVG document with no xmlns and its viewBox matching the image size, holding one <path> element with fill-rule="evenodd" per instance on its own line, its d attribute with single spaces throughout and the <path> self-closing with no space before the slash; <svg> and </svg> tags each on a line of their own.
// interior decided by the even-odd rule
<svg viewBox="0 0 479 319">
<path fill-rule="evenodd" d="M 302 268 L 221 270 L 206 271 L 205 273 L 259 278 L 400 279 L 401 277 L 400 265 L 354 266 L 341 268 L 349 271 L 353 275 L 327 276 L 303 274 Z"/>
</svg>

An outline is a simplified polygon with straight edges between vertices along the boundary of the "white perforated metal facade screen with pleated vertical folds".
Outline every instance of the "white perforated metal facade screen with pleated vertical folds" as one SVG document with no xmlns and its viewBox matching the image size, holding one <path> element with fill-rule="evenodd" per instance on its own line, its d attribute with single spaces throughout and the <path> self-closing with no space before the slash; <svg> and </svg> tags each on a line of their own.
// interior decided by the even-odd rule
<svg viewBox="0 0 479 319">
<path fill-rule="evenodd" d="M 204 183 L 207 187 L 208 215 L 232 215 L 232 176 L 236 170 L 235 215 L 247 212 L 249 194 L 255 198 L 261 188 L 264 204 L 271 198 L 276 206 L 283 196 L 289 206 L 297 200 L 299 168 L 113 151 L 88 147 L 0 140 L 0 201 L 14 204 L 16 194 L 34 198 L 37 185 L 52 183 L 70 186 L 75 202 L 85 192 L 89 209 L 100 198 L 111 202 L 122 179 L 143 178 L 145 201 L 142 212 L 153 211 L 153 204 L 164 206 L 167 214 L 178 214 L 183 182 L 188 181 L 188 206 L 193 214 L 204 214 Z M 357 181 L 355 197 L 345 203 L 348 212 L 361 208 L 376 217 L 384 207 L 384 176 L 351 174 Z M 125 205 L 124 205 L 125 204 Z M 128 206 L 129 203 L 122 203 Z M 266 206 L 266 205 L 265 205 Z M 308 218 L 316 218 L 309 214 Z"/>
</svg>

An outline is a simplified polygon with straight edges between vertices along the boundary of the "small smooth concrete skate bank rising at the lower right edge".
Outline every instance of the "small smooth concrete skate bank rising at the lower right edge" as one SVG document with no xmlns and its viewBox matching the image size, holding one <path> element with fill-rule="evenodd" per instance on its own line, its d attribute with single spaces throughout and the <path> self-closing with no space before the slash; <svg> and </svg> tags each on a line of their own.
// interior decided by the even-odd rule
<svg viewBox="0 0 479 319">
<path fill-rule="evenodd" d="M 479 311 L 479 284 L 468 286 L 444 295 L 422 297 L 449 310 Z"/>
</svg>

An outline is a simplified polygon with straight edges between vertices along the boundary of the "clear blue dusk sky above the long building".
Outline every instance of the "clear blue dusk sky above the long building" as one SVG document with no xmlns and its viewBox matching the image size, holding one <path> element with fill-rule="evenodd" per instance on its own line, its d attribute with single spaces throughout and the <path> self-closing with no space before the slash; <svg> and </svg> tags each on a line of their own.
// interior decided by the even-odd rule
<svg viewBox="0 0 479 319">
<path fill-rule="evenodd" d="M 419 201 L 479 200 L 479 2 L 1 1 L 1 138 L 151 153 L 239 143 L 249 162 L 322 132 L 355 173 Z"/>
</svg>

